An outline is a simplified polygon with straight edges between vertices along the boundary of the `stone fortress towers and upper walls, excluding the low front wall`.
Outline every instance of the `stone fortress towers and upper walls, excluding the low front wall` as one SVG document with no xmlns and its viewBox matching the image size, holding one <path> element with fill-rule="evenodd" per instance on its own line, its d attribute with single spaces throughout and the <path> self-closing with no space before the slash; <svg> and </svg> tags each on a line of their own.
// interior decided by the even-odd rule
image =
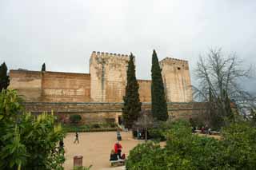
<svg viewBox="0 0 256 170">
<path fill-rule="evenodd" d="M 10 70 L 10 89 L 26 101 L 122 102 L 129 56 L 93 52 L 90 73 Z M 167 102 L 190 102 L 192 90 L 188 61 L 166 57 L 160 61 Z M 140 100 L 150 102 L 151 81 L 138 80 Z"/>
</svg>

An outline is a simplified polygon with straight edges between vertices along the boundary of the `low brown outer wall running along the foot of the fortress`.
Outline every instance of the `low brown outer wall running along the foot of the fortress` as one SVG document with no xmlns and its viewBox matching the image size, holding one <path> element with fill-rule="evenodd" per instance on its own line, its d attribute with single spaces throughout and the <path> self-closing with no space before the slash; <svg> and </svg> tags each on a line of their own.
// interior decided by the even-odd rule
<svg viewBox="0 0 256 170">
<path fill-rule="evenodd" d="M 63 122 L 68 122 L 70 115 L 79 114 L 82 122 L 118 122 L 122 115 L 122 103 L 58 103 L 58 102 L 26 102 L 25 109 L 28 112 L 38 114 L 51 111 Z M 185 118 L 198 116 L 207 112 L 206 103 L 167 103 L 170 118 Z M 142 103 L 142 109 L 151 109 L 150 103 Z"/>
</svg>

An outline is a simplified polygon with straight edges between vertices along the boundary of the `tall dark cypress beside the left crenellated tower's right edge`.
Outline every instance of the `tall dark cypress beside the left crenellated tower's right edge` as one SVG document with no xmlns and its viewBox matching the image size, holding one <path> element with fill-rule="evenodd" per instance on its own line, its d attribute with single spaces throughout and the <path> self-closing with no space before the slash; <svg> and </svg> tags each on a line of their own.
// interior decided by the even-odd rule
<svg viewBox="0 0 256 170">
<path fill-rule="evenodd" d="M 142 103 L 139 101 L 138 81 L 135 76 L 134 56 L 130 53 L 127 69 L 126 96 L 123 97 L 122 108 L 123 123 L 126 128 L 132 128 L 141 111 Z"/>
</svg>

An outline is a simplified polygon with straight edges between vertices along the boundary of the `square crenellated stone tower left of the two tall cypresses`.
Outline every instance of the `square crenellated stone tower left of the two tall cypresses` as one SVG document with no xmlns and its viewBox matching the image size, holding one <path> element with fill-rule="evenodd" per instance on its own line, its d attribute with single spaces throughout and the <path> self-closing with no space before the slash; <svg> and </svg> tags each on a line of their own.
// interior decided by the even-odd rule
<svg viewBox="0 0 256 170">
<path fill-rule="evenodd" d="M 128 55 L 93 52 L 90 94 L 93 102 L 121 102 L 126 89 Z"/>
</svg>

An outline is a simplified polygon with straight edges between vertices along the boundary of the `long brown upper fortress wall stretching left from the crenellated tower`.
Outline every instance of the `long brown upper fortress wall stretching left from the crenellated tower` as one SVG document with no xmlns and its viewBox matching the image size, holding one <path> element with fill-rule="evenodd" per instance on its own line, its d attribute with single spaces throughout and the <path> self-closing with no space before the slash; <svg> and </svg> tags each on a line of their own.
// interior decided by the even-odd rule
<svg viewBox="0 0 256 170">
<path fill-rule="evenodd" d="M 90 74 L 10 70 L 9 89 L 25 101 L 89 102 Z"/>
</svg>

